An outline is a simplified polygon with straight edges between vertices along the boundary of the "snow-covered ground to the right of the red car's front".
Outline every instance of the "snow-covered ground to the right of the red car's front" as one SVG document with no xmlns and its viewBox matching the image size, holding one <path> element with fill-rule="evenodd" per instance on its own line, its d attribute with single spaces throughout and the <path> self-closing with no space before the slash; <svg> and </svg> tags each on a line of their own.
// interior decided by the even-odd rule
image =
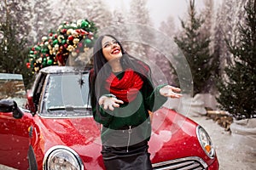
<svg viewBox="0 0 256 170">
<path fill-rule="evenodd" d="M 211 136 L 220 170 L 256 169 L 256 141 L 252 141 L 251 145 L 244 144 L 243 136 L 224 131 L 224 127 L 220 127 L 207 116 L 190 118 L 204 127 Z"/>
</svg>

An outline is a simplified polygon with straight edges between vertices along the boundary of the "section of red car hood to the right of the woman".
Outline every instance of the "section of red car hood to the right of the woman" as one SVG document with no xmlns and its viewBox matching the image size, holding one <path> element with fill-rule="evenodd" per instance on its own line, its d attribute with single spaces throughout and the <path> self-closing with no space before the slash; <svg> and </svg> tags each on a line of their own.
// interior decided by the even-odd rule
<svg viewBox="0 0 256 170">
<path fill-rule="evenodd" d="M 149 141 L 151 161 L 160 162 L 188 156 L 207 156 L 196 136 L 197 124 L 188 117 L 167 108 L 152 116 L 152 135 Z"/>
</svg>

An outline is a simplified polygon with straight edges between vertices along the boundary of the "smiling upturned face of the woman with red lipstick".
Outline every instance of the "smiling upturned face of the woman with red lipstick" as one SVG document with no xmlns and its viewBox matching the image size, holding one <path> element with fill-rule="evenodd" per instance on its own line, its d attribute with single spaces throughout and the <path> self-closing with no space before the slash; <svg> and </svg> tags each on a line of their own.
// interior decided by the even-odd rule
<svg viewBox="0 0 256 170">
<path fill-rule="evenodd" d="M 113 37 L 103 37 L 102 53 L 105 59 L 107 59 L 108 61 L 112 59 L 119 59 L 120 57 L 122 57 L 122 52 L 119 43 L 115 39 L 113 39 Z"/>
</svg>

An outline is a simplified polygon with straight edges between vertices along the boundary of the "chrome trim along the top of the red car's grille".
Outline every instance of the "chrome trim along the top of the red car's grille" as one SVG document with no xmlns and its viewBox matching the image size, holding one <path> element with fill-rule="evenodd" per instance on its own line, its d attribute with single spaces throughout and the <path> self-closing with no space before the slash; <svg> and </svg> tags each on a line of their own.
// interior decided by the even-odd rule
<svg viewBox="0 0 256 170">
<path fill-rule="evenodd" d="M 161 167 L 161 166 L 168 166 L 170 164 L 175 164 L 175 163 L 178 163 L 180 161 L 199 161 L 201 163 L 201 165 L 207 169 L 208 165 L 205 161 L 203 161 L 201 159 L 201 157 L 198 157 L 198 156 L 189 156 L 189 157 L 183 157 L 183 158 L 179 158 L 179 159 L 175 159 L 175 160 L 171 160 L 171 161 L 162 161 L 162 162 L 159 162 L 159 163 L 154 163 L 152 164 L 152 167 L 154 169 L 157 169 L 157 170 L 164 170 L 166 168 L 157 168 L 157 167 Z M 183 162 L 184 165 L 186 165 L 187 163 L 186 162 Z"/>
</svg>

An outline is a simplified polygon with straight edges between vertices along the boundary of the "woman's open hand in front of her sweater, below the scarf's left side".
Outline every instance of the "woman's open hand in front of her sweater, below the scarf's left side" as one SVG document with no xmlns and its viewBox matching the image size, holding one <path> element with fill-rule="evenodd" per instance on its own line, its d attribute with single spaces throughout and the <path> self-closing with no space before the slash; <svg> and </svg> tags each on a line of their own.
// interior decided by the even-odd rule
<svg viewBox="0 0 256 170">
<path fill-rule="evenodd" d="M 124 104 L 124 102 L 112 96 L 108 97 L 102 95 L 102 97 L 99 99 L 99 105 L 103 105 L 104 110 L 109 109 L 110 111 L 113 111 L 114 107 L 119 107 L 119 104 Z"/>
</svg>

